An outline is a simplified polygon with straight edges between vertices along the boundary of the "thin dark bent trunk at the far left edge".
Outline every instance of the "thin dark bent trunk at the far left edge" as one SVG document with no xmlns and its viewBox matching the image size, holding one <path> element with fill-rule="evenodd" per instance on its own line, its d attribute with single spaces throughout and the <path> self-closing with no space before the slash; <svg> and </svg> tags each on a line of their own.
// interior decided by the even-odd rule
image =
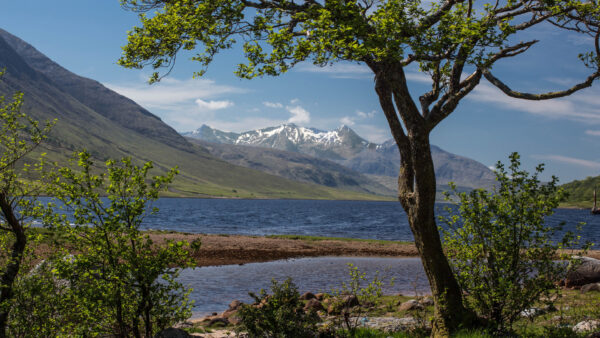
<svg viewBox="0 0 600 338">
<path fill-rule="evenodd" d="M 0 277 L 0 305 L 2 311 L 0 311 L 0 338 L 7 336 L 7 325 L 8 317 L 10 315 L 10 306 L 6 306 L 7 302 L 10 302 L 13 297 L 13 287 L 15 279 L 19 274 L 21 268 L 21 261 L 23 260 L 23 252 L 27 245 L 27 236 L 25 236 L 25 229 L 21 222 L 17 219 L 14 214 L 13 206 L 7 199 L 4 193 L 0 193 L 0 209 L 8 227 L 11 228 L 11 232 L 15 235 L 15 242 L 11 249 L 10 260 L 8 261 L 4 273 Z"/>
</svg>

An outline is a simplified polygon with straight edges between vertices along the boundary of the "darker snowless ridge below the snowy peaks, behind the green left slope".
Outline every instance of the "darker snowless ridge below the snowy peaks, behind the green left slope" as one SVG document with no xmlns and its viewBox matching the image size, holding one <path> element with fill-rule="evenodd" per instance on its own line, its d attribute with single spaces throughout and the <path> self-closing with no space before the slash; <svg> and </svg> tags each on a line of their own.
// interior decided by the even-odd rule
<svg viewBox="0 0 600 338">
<path fill-rule="evenodd" d="M 396 190 L 332 161 L 278 149 L 189 140 L 229 163 L 294 181 L 385 196 L 396 194 Z"/>
</svg>

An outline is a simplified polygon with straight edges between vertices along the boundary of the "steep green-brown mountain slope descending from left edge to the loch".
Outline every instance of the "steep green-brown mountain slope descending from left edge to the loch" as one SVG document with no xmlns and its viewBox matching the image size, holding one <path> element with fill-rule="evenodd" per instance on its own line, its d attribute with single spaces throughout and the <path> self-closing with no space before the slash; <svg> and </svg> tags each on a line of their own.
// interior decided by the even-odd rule
<svg viewBox="0 0 600 338">
<path fill-rule="evenodd" d="M 136 163 L 153 161 L 156 173 L 179 166 L 180 175 L 170 191 L 178 196 L 374 198 L 219 160 L 133 101 L 70 73 L 5 31 L 0 31 L 0 68 L 6 68 L 0 95 L 22 91 L 24 112 L 40 121 L 58 119 L 37 153 L 46 152 L 50 160 L 61 164 L 67 163 L 73 151 L 87 149 L 100 161 L 123 156 Z"/>
</svg>

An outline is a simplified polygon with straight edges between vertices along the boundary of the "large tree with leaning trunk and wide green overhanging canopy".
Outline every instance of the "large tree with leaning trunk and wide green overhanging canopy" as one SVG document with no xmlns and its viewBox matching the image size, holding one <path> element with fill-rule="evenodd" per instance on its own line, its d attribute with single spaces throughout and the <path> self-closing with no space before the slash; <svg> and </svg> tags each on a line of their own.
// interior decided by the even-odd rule
<svg viewBox="0 0 600 338">
<path fill-rule="evenodd" d="M 375 91 L 400 150 L 398 198 L 408 215 L 435 299 L 434 335 L 470 321 L 442 250 L 435 223 L 435 174 L 431 131 L 450 115 L 482 77 L 511 97 L 546 100 L 589 87 L 600 77 L 596 1 L 555 0 L 121 0 L 141 12 L 120 64 L 154 69 L 174 66 L 181 50 L 202 75 L 218 52 L 244 41 L 242 78 L 279 75 L 302 61 L 327 65 L 361 62 L 373 72 Z M 150 10 L 152 15 L 144 13 Z M 591 75 L 557 92 L 521 93 L 492 73 L 499 61 L 525 53 L 538 40 L 518 41 L 541 24 L 594 37 L 580 56 Z M 405 68 L 417 64 L 430 75 L 431 90 L 410 95 Z M 168 74 L 168 72 L 167 72 Z M 153 74 L 150 82 L 160 76 Z"/>
</svg>

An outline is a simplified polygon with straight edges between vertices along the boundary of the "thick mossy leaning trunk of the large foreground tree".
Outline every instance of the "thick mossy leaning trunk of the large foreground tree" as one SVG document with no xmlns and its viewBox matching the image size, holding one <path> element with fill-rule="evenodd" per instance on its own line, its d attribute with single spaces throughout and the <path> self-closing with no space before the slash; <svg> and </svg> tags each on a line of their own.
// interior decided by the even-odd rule
<svg viewBox="0 0 600 338">
<path fill-rule="evenodd" d="M 460 326 L 470 326 L 475 317 L 463 306 L 462 291 L 444 254 L 435 222 L 436 182 L 429 144 L 433 126 L 412 100 L 400 65 L 367 64 L 375 73 L 375 91 L 400 151 L 398 199 L 408 216 L 435 301 L 432 336 L 448 336 Z"/>
</svg>

